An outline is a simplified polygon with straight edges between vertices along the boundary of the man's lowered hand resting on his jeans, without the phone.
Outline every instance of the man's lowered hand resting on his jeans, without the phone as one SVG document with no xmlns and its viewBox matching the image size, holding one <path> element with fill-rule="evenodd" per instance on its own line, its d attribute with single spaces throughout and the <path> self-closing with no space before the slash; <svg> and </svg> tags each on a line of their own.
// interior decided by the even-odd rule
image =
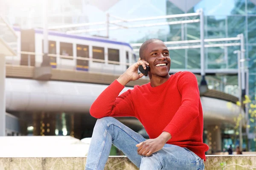
<svg viewBox="0 0 256 170">
<path fill-rule="evenodd" d="M 156 139 L 148 139 L 144 142 L 141 142 L 136 145 L 138 147 L 137 152 L 141 156 L 151 156 L 152 153 L 161 150 L 164 146 L 165 142 L 158 138 Z"/>
</svg>

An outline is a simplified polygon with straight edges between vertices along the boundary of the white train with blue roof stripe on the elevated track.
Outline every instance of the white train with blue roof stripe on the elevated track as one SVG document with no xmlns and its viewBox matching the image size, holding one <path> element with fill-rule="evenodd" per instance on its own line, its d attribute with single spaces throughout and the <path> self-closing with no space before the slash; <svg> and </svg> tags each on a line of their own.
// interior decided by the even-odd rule
<svg viewBox="0 0 256 170">
<path fill-rule="evenodd" d="M 14 27 L 14 30 L 18 36 L 17 51 L 32 52 L 35 55 L 18 54 L 17 57 L 7 57 L 6 63 L 40 66 L 43 61 L 41 55 L 44 41 L 43 29 L 22 30 Z M 48 40 L 49 54 L 57 54 L 57 57 L 51 57 L 52 68 L 120 74 L 128 66 L 110 63 L 109 61 L 120 63 L 136 62 L 131 45 L 125 42 L 108 40 L 103 37 L 71 35 L 50 30 Z M 70 56 L 70 58 L 63 58 L 63 56 Z M 105 62 L 81 60 L 76 57 L 101 59 Z"/>
</svg>

